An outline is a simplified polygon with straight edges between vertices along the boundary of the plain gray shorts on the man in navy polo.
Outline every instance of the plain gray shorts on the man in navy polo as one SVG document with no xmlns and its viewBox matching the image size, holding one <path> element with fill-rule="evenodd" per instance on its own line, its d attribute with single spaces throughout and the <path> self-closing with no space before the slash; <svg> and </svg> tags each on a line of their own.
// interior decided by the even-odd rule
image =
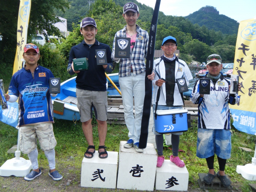
<svg viewBox="0 0 256 192">
<path fill-rule="evenodd" d="M 108 98 L 107 91 L 88 91 L 76 88 L 77 108 L 81 122 L 92 119 L 92 108 L 95 119 L 107 121 Z"/>
</svg>

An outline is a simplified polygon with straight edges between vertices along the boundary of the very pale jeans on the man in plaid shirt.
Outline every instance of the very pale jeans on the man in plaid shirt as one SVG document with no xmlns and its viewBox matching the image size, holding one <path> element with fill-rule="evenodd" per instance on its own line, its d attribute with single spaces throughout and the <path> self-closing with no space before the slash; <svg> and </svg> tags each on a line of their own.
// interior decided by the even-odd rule
<svg viewBox="0 0 256 192">
<path fill-rule="evenodd" d="M 145 72 L 139 75 L 119 77 L 119 85 L 124 105 L 125 124 L 129 130 L 128 137 L 134 143 L 140 140 L 140 128 L 145 97 Z M 133 116 L 133 96 L 135 118 Z"/>
</svg>

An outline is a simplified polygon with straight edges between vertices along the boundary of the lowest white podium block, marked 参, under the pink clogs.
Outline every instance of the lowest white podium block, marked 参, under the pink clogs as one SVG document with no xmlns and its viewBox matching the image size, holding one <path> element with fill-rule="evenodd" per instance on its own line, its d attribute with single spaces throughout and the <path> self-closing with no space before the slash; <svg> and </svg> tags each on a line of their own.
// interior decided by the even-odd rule
<svg viewBox="0 0 256 192">
<path fill-rule="evenodd" d="M 156 168 L 156 190 L 187 191 L 188 170 L 178 167 L 170 160 L 164 160 L 162 167 Z"/>
</svg>

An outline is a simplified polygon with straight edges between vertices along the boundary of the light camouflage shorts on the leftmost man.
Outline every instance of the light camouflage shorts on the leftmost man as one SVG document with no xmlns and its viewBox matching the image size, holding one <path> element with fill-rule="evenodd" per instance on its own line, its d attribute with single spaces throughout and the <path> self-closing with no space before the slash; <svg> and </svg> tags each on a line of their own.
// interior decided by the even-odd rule
<svg viewBox="0 0 256 192">
<path fill-rule="evenodd" d="M 52 123 L 41 123 L 19 127 L 20 150 L 28 154 L 37 148 L 37 138 L 43 151 L 51 151 L 57 145 Z"/>
</svg>

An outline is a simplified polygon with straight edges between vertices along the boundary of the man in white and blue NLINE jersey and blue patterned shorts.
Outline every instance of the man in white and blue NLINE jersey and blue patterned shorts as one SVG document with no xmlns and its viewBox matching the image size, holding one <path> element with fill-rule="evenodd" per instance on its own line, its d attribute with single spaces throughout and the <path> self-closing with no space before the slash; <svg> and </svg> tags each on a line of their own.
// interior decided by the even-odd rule
<svg viewBox="0 0 256 192">
<path fill-rule="evenodd" d="M 205 158 L 209 171 L 204 182 L 211 184 L 217 176 L 224 187 L 231 181 L 225 175 L 225 165 L 231 156 L 230 112 L 228 104 L 239 101 L 237 94 L 230 94 L 230 80 L 223 77 L 220 55 L 212 54 L 207 58 L 209 73 L 204 77 L 210 79 L 210 94 L 199 94 L 199 80 L 191 93 L 191 100 L 198 104 L 198 131 L 196 156 Z M 205 83 L 208 80 L 205 79 Z M 241 86 L 239 84 L 240 90 Z M 214 154 L 217 155 L 219 171 L 214 171 Z"/>
</svg>

